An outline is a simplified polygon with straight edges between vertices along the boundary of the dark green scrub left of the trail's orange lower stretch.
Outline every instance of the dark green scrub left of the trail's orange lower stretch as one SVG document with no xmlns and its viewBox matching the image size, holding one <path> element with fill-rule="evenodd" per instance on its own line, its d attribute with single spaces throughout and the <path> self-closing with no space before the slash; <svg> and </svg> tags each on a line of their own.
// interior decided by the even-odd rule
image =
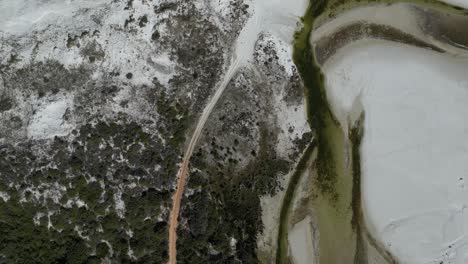
<svg viewBox="0 0 468 264">
<path fill-rule="evenodd" d="M 136 122 L 123 113 L 102 117 L 102 105 L 122 88 L 112 81 L 118 75 L 104 76 L 108 79 L 102 85 L 90 81 L 89 70 L 66 69 L 55 61 L 2 74 L 6 89 L 24 95 L 76 91 L 71 114 L 84 124 L 67 138 L 0 146 L 0 192 L 10 197 L 7 202 L 0 198 L 0 263 L 167 261 L 164 208 L 171 203 L 191 117 L 187 106 L 166 96 L 166 87 L 157 82 L 134 87 L 142 96 L 130 98 L 133 104 L 151 106 L 146 108 L 158 116 L 157 124 L 151 118 Z M 5 109 L 8 100 L 0 102 Z M 18 130 L 21 118 L 11 115 L 3 128 Z M 79 206 L 78 199 L 86 205 Z M 136 260 L 129 257 L 130 249 Z"/>
</svg>

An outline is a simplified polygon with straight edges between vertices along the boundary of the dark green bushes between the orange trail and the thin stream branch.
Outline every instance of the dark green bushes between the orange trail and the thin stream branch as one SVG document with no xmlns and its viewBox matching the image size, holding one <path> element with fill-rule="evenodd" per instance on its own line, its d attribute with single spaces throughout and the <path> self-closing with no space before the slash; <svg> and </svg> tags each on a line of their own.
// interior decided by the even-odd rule
<svg viewBox="0 0 468 264">
<path fill-rule="evenodd" d="M 271 138 L 262 129 L 257 158 L 240 171 L 234 171 L 229 164 L 207 163 L 203 158 L 206 153 L 192 158 L 197 171 L 191 174 L 188 188 L 196 191 L 182 202 L 182 218 L 187 225 L 178 230 L 179 261 L 258 261 L 257 234 L 263 230 L 260 196 L 276 193 L 280 176 L 291 165 L 276 157 Z"/>
</svg>

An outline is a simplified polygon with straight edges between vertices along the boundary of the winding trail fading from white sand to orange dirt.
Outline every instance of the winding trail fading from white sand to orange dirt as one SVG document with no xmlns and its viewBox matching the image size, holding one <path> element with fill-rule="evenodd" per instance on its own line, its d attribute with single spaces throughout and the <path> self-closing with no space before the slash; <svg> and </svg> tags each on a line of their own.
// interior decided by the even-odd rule
<svg viewBox="0 0 468 264">
<path fill-rule="evenodd" d="M 251 6 L 253 8 L 252 16 L 247 20 L 234 44 L 235 50 L 232 56 L 232 63 L 224 75 L 223 81 L 216 88 L 215 94 L 203 110 L 177 173 L 177 186 L 173 195 L 173 204 L 169 216 L 170 264 L 177 262 L 178 217 L 182 196 L 188 180 L 190 158 L 208 117 L 238 69 L 251 60 L 259 34 L 265 30 L 279 35 L 285 42 L 291 42 L 296 24 L 299 22 L 299 16 L 306 6 L 307 0 L 295 1 L 294 4 L 285 4 L 282 0 L 256 0 L 253 2 L 253 6 Z"/>
</svg>

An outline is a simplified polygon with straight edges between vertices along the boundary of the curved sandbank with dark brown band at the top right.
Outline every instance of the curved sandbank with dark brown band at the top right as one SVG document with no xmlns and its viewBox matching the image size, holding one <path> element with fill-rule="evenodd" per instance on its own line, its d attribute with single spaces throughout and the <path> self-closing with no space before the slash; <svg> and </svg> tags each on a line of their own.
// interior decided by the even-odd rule
<svg viewBox="0 0 468 264">
<path fill-rule="evenodd" d="M 468 32 L 460 30 L 468 25 L 463 11 L 438 2 L 384 3 L 345 9 L 333 19 L 322 19 L 310 39 L 319 65 L 360 39 L 383 39 L 467 56 Z"/>
</svg>

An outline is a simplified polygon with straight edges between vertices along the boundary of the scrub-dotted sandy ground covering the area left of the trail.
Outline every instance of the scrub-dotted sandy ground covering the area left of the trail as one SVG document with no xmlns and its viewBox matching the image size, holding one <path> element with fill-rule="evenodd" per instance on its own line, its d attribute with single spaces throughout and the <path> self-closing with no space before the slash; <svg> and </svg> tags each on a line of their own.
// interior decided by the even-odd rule
<svg viewBox="0 0 468 264">
<path fill-rule="evenodd" d="M 221 17 L 203 1 L 111 2 L 2 45 L 0 263 L 167 261 L 186 133 L 248 6 Z M 31 138 L 30 121 L 63 98 L 70 133 Z"/>
</svg>

